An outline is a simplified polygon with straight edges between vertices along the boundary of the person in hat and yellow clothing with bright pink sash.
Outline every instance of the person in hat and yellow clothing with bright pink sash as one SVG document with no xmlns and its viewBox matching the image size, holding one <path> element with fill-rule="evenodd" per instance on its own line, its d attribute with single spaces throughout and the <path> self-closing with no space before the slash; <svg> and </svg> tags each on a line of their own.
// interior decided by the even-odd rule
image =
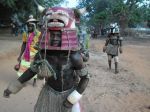
<svg viewBox="0 0 150 112">
<path fill-rule="evenodd" d="M 37 44 L 39 42 L 39 37 L 41 32 L 37 30 L 36 24 L 37 20 L 33 18 L 32 15 L 29 16 L 29 20 L 27 21 L 28 31 L 24 31 L 22 33 L 22 46 L 20 54 L 17 58 L 19 64 L 15 66 L 15 70 L 17 71 L 18 76 L 21 76 L 29 67 L 31 62 L 34 60 L 34 56 L 37 53 Z M 33 86 L 36 84 L 37 76 L 33 78 Z"/>
</svg>

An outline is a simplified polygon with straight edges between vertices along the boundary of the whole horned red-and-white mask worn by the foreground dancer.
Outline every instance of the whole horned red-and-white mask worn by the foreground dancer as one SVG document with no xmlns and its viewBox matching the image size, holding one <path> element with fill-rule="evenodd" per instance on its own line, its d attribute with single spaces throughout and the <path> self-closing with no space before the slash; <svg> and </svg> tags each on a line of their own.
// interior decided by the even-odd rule
<svg viewBox="0 0 150 112">
<path fill-rule="evenodd" d="M 34 0 L 39 12 L 42 13 L 41 49 L 47 50 L 79 50 L 77 29 L 75 23 L 79 23 L 80 15 L 86 12 L 86 8 L 73 9 L 63 7 L 44 8 Z M 61 32 L 61 42 L 54 41 L 50 31 Z M 59 45 L 56 45 L 56 43 Z"/>
</svg>

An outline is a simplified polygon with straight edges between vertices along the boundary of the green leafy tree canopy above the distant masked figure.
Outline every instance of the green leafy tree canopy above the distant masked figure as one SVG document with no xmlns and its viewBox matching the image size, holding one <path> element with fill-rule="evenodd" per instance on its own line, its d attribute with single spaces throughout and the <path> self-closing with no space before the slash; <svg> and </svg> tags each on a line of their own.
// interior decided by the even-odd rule
<svg viewBox="0 0 150 112">
<path fill-rule="evenodd" d="M 88 15 L 88 23 L 105 25 L 118 22 L 122 32 L 128 25 L 143 22 L 143 17 L 148 20 L 149 9 L 145 0 L 84 0 L 79 4 L 82 7 L 89 5 L 91 10 Z"/>
</svg>

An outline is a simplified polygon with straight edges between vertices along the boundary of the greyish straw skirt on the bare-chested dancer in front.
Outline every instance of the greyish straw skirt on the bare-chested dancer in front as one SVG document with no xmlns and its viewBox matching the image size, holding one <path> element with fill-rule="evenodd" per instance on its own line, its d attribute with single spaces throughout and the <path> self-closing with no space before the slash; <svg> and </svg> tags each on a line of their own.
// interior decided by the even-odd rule
<svg viewBox="0 0 150 112">
<path fill-rule="evenodd" d="M 63 106 L 63 102 L 72 91 L 73 89 L 57 92 L 48 85 L 44 85 L 34 107 L 34 112 L 71 112 L 71 109 Z"/>
</svg>

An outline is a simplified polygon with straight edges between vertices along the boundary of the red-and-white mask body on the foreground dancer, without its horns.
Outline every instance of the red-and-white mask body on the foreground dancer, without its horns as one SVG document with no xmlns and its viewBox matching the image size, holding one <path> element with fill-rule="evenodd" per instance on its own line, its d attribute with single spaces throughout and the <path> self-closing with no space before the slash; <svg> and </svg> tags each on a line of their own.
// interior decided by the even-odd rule
<svg viewBox="0 0 150 112">
<path fill-rule="evenodd" d="M 44 15 L 41 48 L 48 50 L 78 50 L 74 11 L 69 8 L 48 8 Z M 47 29 L 47 30 L 46 30 Z"/>
</svg>

